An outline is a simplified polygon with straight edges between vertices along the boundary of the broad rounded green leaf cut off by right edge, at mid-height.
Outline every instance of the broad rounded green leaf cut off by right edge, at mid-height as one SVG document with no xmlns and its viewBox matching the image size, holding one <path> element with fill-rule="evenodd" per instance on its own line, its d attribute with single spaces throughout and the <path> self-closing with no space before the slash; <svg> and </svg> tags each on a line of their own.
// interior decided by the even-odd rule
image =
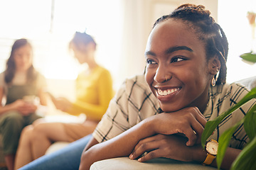
<svg viewBox="0 0 256 170">
<path fill-rule="evenodd" d="M 256 135 L 256 104 L 246 113 L 244 127 L 249 139 L 252 140 Z"/>
</svg>

